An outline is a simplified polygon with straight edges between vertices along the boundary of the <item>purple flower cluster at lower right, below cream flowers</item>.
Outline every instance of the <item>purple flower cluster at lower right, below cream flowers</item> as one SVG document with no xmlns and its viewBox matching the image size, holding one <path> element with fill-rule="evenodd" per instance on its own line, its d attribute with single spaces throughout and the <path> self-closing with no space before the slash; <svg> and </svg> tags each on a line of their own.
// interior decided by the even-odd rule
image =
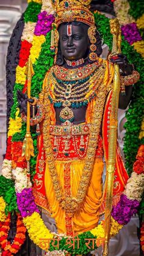
<svg viewBox="0 0 144 256">
<path fill-rule="evenodd" d="M 122 194 L 117 206 L 112 208 L 112 217 L 119 224 L 126 225 L 132 215 L 137 213 L 138 207 L 139 202 L 137 200 L 130 200 L 126 195 Z"/>
</svg>

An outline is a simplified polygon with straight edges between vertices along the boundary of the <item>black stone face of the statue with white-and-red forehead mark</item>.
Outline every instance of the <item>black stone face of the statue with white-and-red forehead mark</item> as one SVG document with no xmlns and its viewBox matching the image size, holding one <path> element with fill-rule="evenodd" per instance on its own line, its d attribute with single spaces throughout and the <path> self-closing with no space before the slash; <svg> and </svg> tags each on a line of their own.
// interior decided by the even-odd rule
<svg viewBox="0 0 144 256">
<path fill-rule="evenodd" d="M 87 57 L 88 35 L 85 25 L 61 24 L 59 27 L 60 49 L 67 60 Z"/>
</svg>

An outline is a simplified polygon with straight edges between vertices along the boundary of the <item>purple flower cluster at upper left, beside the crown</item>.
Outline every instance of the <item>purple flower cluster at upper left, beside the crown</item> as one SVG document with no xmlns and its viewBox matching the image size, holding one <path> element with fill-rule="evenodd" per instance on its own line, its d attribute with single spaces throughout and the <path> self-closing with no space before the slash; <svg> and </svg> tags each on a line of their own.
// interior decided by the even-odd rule
<svg viewBox="0 0 144 256">
<path fill-rule="evenodd" d="M 38 14 L 38 21 L 35 26 L 35 35 L 46 35 L 52 29 L 52 23 L 54 22 L 54 16 L 44 10 Z"/>
</svg>

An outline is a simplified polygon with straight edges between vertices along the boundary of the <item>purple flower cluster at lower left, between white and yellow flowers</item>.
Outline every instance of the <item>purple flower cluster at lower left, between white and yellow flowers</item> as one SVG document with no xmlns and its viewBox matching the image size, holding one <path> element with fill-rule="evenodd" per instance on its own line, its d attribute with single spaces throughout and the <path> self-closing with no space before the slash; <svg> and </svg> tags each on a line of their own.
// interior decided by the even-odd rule
<svg viewBox="0 0 144 256">
<path fill-rule="evenodd" d="M 17 193 L 18 210 L 23 218 L 31 216 L 34 211 L 39 213 L 37 205 L 35 205 L 32 188 L 24 188 L 21 193 Z"/>
</svg>

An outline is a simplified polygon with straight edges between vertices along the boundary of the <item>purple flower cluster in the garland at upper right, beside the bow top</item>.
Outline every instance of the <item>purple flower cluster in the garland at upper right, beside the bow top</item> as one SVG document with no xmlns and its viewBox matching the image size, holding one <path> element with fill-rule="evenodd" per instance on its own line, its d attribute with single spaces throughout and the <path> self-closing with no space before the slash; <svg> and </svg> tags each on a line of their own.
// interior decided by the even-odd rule
<svg viewBox="0 0 144 256">
<path fill-rule="evenodd" d="M 134 42 L 142 40 L 139 30 L 137 29 L 137 24 L 134 22 L 121 26 L 121 32 L 124 35 L 124 39 L 127 40 L 130 45 L 132 45 Z"/>
</svg>

